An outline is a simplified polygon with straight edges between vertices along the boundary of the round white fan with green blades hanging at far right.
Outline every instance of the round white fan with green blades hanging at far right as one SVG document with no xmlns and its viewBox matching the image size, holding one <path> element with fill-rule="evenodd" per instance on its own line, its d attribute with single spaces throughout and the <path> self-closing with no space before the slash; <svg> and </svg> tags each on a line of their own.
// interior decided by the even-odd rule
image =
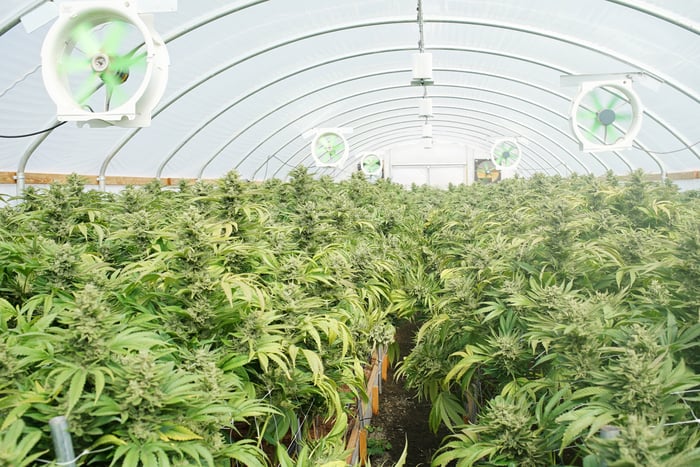
<svg viewBox="0 0 700 467">
<path fill-rule="evenodd" d="M 583 151 L 612 151 L 632 146 L 643 108 L 630 80 L 581 84 L 571 106 L 571 127 Z"/>
</svg>

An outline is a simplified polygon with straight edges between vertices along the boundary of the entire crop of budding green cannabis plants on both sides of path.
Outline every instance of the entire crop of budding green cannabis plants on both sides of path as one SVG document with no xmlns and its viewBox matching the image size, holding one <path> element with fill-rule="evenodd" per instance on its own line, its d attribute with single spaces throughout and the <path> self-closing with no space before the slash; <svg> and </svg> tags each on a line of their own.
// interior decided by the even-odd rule
<svg viewBox="0 0 700 467">
<path fill-rule="evenodd" d="M 699 214 L 641 173 L 29 189 L 0 209 L 0 461 L 50 460 L 65 415 L 78 465 L 345 465 L 363 365 L 415 319 L 434 465 L 696 465 Z"/>
</svg>

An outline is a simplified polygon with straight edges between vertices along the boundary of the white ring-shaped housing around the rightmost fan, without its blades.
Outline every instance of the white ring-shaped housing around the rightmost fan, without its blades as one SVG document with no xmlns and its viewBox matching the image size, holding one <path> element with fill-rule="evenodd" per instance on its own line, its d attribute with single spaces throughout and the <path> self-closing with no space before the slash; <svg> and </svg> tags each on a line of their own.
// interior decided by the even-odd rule
<svg viewBox="0 0 700 467">
<path fill-rule="evenodd" d="M 571 131 L 574 133 L 574 136 L 576 136 L 576 139 L 579 142 L 579 148 L 582 151 L 615 151 L 620 149 L 629 149 L 632 147 L 634 139 L 637 137 L 639 130 L 641 129 L 641 117 L 644 113 L 642 101 L 632 88 L 632 83 L 633 80 L 626 75 L 619 76 L 616 79 L 590 80 L 580 83 L 578 93 L 571 103 L 569 122 L 571 124 Z M 622 94 L 628 100 L 630 106 L 632 107 L 632 124 L 630 125 L 627 133 L 623 137 L 619 138 L 614 144 L 602 144 L 591 141 L 585 136 L 584 132 L 578 125 L 576 111 L 579 105 L 581 105 L 581 102 L 590 91 L 598 87 L 608 87 L 619 91 L 620 94 Z"/>
</svg>

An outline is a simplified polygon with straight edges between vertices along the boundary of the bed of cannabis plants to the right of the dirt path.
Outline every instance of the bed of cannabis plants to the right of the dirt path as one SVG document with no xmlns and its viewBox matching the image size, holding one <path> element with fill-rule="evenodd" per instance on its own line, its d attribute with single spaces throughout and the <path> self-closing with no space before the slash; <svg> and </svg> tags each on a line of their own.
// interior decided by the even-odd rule
<svg viewBox="0 0 700 467">
<path fill-rule="evenodd" d="M 635 173 L 428 198 L 398 373 L 452 432 L 434 466 L 700 465 L 697 192 Z"/>
</svg>

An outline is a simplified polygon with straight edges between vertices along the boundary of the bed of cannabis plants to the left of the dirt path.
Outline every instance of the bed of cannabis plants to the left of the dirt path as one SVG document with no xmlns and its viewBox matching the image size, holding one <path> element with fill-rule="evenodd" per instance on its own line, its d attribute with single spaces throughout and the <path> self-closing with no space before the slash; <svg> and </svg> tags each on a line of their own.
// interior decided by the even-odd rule
<svg viewBox="0 0 700 467">
<path fill-rule="evenodd" d="M 340 466 L 420 261 L 420 197 L 361 175 L 71 176 L 0 209 L 0 464 Z"/>
</svg>

